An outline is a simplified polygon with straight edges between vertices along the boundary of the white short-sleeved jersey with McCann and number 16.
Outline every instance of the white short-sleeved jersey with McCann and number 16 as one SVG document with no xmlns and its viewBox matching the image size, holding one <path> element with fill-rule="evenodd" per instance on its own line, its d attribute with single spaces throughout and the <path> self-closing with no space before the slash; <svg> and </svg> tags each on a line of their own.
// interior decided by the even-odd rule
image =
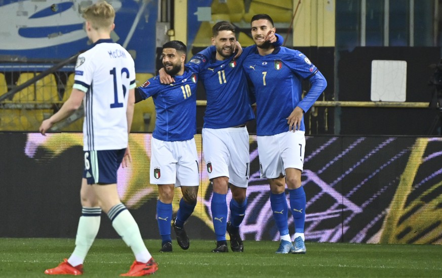
<svg viewBox="0 0 442 278">
<path fill-rule="evenodd" d="M 111 39 L 100 39 L 78 56 L 73 88 L 85 92 L 85 151 L 128 147 L 129 90 L 135 88 L 131 55 Z"/>
</svg>

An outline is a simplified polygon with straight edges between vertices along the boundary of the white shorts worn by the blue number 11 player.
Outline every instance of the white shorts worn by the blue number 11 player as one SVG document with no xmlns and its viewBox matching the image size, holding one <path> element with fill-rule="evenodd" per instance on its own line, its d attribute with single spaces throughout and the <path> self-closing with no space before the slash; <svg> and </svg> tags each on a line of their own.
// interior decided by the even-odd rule
<svg viewBox="0 0 442 278">
<path fill-rule="evenodd" d="M 247 188 L 250 173 L 247 127 L 203 128 L 202 133 L 209 179 L 226 176 L 234 186 Z"/>
</svg>

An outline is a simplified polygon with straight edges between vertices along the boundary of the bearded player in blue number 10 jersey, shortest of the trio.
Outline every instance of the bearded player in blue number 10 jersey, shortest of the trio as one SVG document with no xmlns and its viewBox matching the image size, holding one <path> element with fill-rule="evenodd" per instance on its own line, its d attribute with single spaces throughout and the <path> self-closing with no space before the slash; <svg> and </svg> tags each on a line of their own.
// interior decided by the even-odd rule
<svg viewBox="0 0 442 278">
<path fill-rule="evenodd" d="M 152 77 L 136 88 L 136 102 L 153 98 L 156 111 L 150 159 L 150 183 L 158 185 L 159 198 L 156 214 L 162 238 L 160 252 L 172 251 L 171 221 L 178 245 L 186 250 L 189 238 L 184 222 L 196 206 L 199 174 L 198 156 L 193 136 L 196 133 L 196 81 L 197 77 L 184 67 L 186 45 L 178 40 L 163 45 L 163 65 L 175 82 L 166 85 Z M 172 220 L 174 188 L 181 187 L 176 218 Z"/>
</svg>

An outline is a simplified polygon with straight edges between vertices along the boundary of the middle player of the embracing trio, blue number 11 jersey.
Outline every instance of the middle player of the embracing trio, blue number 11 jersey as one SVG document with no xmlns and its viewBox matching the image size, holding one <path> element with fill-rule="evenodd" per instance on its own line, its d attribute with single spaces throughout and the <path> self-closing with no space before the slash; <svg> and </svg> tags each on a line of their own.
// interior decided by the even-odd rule
<svg viewBox="0 0 442 278">
<path fill-rule="evenodd" d="M 249 133 L 246 123 L 255 118 L 250 105 L 247 80 L 242 63 L 249 48 L 234 57 L 235 27 L 220 21 L 212 28 L 213 46 L 192 57 L 187 67 L 198 72 L 206 90 L 207 107 L 203 126 L 203 153 L 209 179 L 213 184 L 212 220 L 217 239 L 212 252 L 227 252 L 226 230 L 233 252 L 243 252 L 239 225 L 246 212 L 249 182 Z M 281 45 L 283 38 L 274 32 L 266 40 Z M 165 80 L 165 82 L 167 82 Z M 227 222 L 226 195 L 232 193 L 230 221 Z"/>
</svg>

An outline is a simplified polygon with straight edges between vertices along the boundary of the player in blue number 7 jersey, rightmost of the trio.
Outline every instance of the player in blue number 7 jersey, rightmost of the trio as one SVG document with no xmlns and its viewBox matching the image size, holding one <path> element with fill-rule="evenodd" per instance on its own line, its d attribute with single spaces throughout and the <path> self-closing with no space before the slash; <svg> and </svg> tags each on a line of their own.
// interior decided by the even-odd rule
<svg viewBox="0 0 442 278">
<path fill-rule="evenodd" d="M 327 86 L 319 70 L 301 52 L 274 47 L 265 41 L 273 20 L 266 14 L 252 17 L 255 51 L 243 63 L 253 85 L 257 106 L 257 141 L 261 177 L 270 184 L 270 204 L 281 242 L 276 253 L 304 254 L 305 192 L 301 186 L 305 150 L 304 113 Z M 302 98 L 302 80 L 310 89 Z M 295 224 L 295 242 L 289 235 L 286 183 Z"/>
</svg>

